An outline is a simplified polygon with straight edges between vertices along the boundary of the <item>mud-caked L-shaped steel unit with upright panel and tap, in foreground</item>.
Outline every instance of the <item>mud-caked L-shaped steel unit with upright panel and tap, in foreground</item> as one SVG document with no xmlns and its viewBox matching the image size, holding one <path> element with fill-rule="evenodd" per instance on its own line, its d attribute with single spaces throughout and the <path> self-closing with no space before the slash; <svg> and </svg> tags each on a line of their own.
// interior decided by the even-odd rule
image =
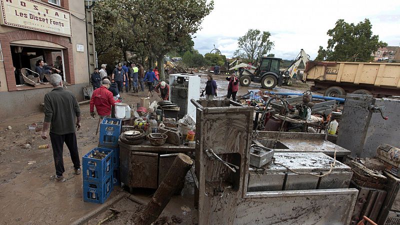
<svg viewBox="0 0 400 225">
<path fill-rule="evenodd" d="M 350 222 L 358 192 L 354 188 L 247 191 L 252 107 L 231 101 L 191 102 L 197 113 L 198 224 Z M 233 172 L 235 166 L 239 168 Z"/>
</svg>

